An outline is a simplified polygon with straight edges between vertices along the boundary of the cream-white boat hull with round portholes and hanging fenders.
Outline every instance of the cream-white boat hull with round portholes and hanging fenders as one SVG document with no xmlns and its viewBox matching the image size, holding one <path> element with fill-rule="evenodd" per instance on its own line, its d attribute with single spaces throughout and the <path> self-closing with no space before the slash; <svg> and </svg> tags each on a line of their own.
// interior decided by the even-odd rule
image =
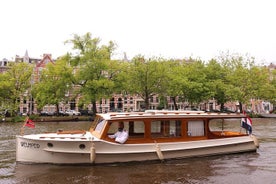
<svg viewBox="0 0 276 184">
<path fill-rule="evenodd" d="M 118 144 L 85 134 L 16 137 L 16 161 L 51 164 L 102 164 L 166 160 L 256 151 L 254 137 L 240 136 L 171 143 Z"/>
</svg>

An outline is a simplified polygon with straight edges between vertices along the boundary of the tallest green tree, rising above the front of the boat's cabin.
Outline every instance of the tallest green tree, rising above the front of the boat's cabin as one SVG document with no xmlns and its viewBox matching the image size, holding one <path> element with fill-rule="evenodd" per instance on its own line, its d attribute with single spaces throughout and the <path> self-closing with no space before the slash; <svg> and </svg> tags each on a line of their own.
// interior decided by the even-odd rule
<svg viewBox="0 0 276 184">
<path fill-rule="evenodd" d="M 116 46 L 112 41 L 108 45 L 100 45 L 100 39 L 92 38 L 91 33 L 74 35 L 67 43 L 73 44 L 77 51 L 71 59 L 77 66 L 74 85 L 80 85 L 82 100 L 92 103 L 96 113 L 96 102 L 113 93 L 117 68 L 111 56 Z"/>
</svg>

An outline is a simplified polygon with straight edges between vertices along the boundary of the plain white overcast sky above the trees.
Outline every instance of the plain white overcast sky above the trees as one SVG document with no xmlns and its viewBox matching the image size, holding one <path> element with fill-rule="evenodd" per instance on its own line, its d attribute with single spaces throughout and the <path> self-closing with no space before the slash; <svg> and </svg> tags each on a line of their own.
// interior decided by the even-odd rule
<svg viewBox="0 0 276 184">
<path fill-rule="evenodd" d="M 0 1 L 0 60 L 70 52 L 73 34 L 117 44 L 114 58 L 136 55 L 205 61 L 222 53 L 276 63 L 274 0 Z"/>
</svg>

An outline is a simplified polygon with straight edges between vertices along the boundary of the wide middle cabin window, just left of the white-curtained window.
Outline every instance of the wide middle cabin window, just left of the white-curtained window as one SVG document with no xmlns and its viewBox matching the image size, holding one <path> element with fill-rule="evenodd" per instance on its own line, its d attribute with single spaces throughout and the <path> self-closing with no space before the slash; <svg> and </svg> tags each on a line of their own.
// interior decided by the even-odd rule
<svg viewBox="0 0 276 184">
<path fill-rule="evenodd" d="M 180 137 L 180 120 L 157 120 L 151 122 L 151 137 Z"/>
</svg>

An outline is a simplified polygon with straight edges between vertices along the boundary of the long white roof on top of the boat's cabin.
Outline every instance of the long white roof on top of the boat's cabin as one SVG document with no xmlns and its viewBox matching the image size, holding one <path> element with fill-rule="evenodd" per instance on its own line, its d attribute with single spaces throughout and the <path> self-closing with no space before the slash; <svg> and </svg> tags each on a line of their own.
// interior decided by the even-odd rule
<svg viewBox="0 0 276 184">
<path fill-rule="evenodd" d="M 109 112 L 99 113 L 98 116 L 106 120 L 123 119 L 148 119 L 148 118 L 243 118 L 242 113 L 211 113 L 205 111 L 165 111 L 165 110 L 146 110 L 145 112 Z"/>
</svg>

